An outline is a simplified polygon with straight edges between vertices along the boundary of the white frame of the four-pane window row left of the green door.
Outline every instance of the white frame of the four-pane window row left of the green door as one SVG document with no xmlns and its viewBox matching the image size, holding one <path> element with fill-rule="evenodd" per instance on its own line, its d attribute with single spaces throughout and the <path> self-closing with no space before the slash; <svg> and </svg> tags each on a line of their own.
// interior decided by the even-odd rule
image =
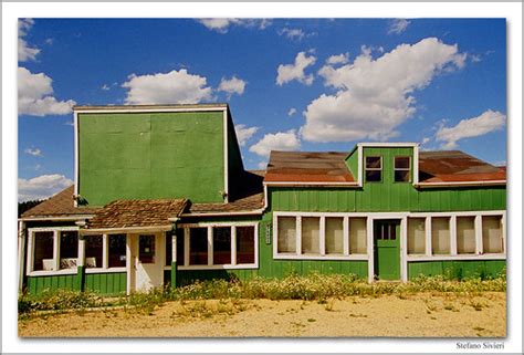
<svg viewBox="0 0 524 355">
<path fill-rule="evenodd" d="M 369 213 L 339 213 L 339 212 L 273 212 L 273 259 L 275 260 L 369 260 L 369 253 L 350 254 L 349 253 L 349 223 L 350 218 L 369 218 Z M 279 253 L 279 218 L 294 217 L 296 219 L 296 251 L 295 253 Z M 319 253 L 302 253 L 302 218 L 315 217 L 319 219 Z M 326 254 L 326 218 L 343 219 L 343 254 Z M 368 243 L 368 241 L 366 241 Z"/>
</svg>

